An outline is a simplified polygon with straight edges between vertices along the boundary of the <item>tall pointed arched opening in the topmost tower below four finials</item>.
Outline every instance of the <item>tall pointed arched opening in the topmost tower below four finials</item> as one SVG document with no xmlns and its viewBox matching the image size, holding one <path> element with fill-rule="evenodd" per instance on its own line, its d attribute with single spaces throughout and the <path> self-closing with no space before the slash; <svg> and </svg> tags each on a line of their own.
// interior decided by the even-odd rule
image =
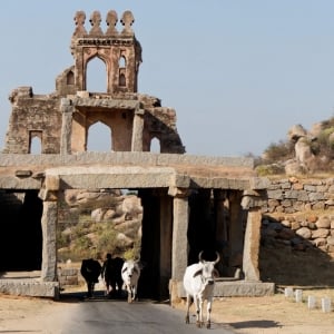
<svg viewBox="0 0 334 334">
<path fill-rule="evenodd" d="M 107 92 L 107 70 L 105 62 L 95 57 L 87 63 L 86 90 Z"/>
</svg>

